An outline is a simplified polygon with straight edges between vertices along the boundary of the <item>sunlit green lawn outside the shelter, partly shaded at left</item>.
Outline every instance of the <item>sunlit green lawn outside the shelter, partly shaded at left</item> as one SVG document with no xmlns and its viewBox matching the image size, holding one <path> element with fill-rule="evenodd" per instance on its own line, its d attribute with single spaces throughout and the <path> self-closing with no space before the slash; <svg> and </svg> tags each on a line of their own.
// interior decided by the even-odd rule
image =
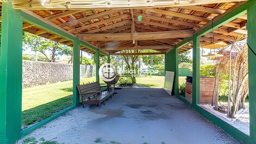
<svg viewBox="0 0 256 144">
<path fill-rule="evenodd" d="M 185 78 L 185 77 L 184 77 Z M 183 77 L 179 80 L 182 82 Z M 95 77 L 81 79 L 81 84 L 95 82 Z M 163 87 L 163 76 L 137 78 L 143 86 Z M 105 83 L 100 81 L 101 85 Z M 23 128 L 35 122 L 45 120 L 52 114 L 72 105 L 72 80 L 54 84 L 24 88 L 22 90 L 22 124 Z"/>
</svg>

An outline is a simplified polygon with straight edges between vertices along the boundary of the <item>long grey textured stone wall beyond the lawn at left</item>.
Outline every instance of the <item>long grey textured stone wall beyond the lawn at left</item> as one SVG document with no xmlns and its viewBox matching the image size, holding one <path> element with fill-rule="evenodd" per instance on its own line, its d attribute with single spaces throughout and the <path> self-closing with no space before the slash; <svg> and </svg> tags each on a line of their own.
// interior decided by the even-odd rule
<svg viewBox="0 0 256 144">
<path fill-rule="evenodd" d="M 92 77 L 93 67 L 80 65 L 80 77 Z M 64 82 L 73 79 L 73 65 L 57 62 L 42 62 L 23 60 L 22 84 L 23 87 L 43 85 L 47 83 Z"/>
</svg>

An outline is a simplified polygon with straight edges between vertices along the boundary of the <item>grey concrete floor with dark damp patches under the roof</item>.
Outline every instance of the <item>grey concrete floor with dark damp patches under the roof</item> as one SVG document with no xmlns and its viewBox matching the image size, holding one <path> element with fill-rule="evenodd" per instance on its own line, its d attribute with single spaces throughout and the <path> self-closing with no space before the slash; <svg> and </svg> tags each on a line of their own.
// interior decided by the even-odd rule
<svg viewBox="0 0 256 144">
<path fill-rule="evenodd" d="M 240 143 L 162 88 L 117 92 L 101 108 L 71 110 L 27 137 L 72 144 L 97 137 L 101 143 Z"/>
</svg>

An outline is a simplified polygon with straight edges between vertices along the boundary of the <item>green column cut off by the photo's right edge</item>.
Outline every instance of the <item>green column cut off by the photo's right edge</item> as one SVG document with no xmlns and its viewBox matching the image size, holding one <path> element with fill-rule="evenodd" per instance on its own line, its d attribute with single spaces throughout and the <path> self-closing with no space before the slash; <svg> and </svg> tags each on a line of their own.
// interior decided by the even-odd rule
<svg viewBox="0 0 256 144">
<path fill-rule="evenodd" d="M 250 136 L 256 143 L 256 4 L 247 10 Z"/>
</svg>

